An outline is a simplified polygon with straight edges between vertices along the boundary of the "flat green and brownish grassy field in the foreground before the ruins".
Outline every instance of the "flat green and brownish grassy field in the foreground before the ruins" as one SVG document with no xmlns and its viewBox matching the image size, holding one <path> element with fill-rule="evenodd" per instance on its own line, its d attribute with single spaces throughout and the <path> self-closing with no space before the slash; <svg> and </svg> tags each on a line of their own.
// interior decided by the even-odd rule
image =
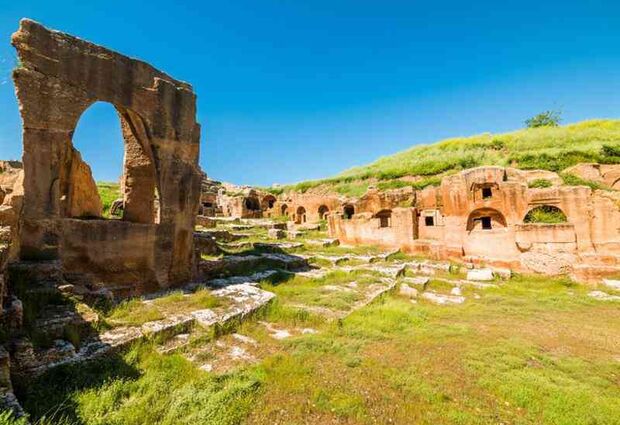
<svg viewBox="0 0 620 425">
<path fill-rule="evenodd" d="M 272 289 L 284 299 L 309 296 L 311 286 Z M 238 332 L 267 355 L 224 375 L 135 346 L 57 369 L 22 400 L 48 423 L 619 423 L 617 302 L 564 279 L 520 277 L 476 291 L 479 299 L 452 307 L 390 295 L 335 323 L 278 302 L 264 320 L 319 332 L 279 341 L 248 322 Z"/>
</svg>

